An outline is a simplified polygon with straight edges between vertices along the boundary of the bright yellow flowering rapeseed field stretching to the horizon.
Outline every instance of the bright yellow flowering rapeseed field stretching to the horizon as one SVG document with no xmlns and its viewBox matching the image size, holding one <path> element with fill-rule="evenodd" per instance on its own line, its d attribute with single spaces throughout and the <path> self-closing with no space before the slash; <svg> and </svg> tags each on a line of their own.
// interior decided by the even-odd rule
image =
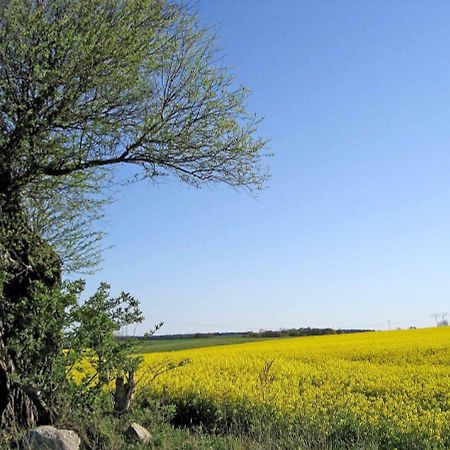
<svg viewBox="0 0 450 450">
<path fill-rule="evenodd" d="M 450 448 L 450 327 L 146 354 L 144 366 L 183 359 L 151 384 L 179 424 L 264 422 L 309 445 Z"/>
</svg>

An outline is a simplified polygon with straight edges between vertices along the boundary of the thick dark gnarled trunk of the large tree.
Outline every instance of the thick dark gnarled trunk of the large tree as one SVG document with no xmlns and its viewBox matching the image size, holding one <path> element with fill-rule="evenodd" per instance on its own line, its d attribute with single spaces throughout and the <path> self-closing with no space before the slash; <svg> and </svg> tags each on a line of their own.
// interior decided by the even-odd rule
<svg viewBox="0 0 450 450">
<path fill-rule="evenodd" d="M 1 186 L 0 186 L 1 188 Z M 59 343 L 48 336 L 48 348 L 36 361 L 25 361 L 14 343 L 25 334 L 40 339 L 33 323 L 33 283 L 49 288 L 60 283 L 60 262 L 55 253 L 33 234 L 18 195 L 0 189 L 0 431 L 49 423 L 51 411 L 41 393 L 24 380 L 30 371 L 45 371 L 49 359 L 59 351 Z M 23 300 L 26 300 L 25 306 Z M 20 313 L 18 313 L 18 311 Z M 46 337 L 47 338 L 47 337 Z M 47 340 L 46 340 L 47 342 Z M 25 351 L 26 354 L 26 351 Z M 25 358 L 26 359 L 26 358 Z"/>
</svg>

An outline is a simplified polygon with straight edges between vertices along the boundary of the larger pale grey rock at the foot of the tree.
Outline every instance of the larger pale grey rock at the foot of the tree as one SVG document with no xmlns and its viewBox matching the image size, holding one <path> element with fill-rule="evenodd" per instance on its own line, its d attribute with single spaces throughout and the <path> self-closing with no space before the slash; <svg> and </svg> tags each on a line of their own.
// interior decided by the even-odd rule
<svg viewBox="0 0 450 450">
<path fill-rule="evenodd" d="M 24 448 L 30 450 L 78 450 L 80 438 L 75 431 L 45 425 L 27 433 Z"/>
</svg>

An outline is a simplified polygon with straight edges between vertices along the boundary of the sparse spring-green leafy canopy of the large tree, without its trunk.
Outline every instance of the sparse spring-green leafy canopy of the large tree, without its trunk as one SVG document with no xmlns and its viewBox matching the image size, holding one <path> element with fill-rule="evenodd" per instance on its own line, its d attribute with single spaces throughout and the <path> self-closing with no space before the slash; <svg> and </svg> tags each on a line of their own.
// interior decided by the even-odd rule
<svg viewBox="0 0 450 450">
<path fill-rule="evenodd" d="M 88 186 L 98 194 L 102 172 L 118 164 L 132 165 L 133 179 L 170 174 L 196 186 L 261 187 L 258 119 L 219 56 L 214 38 L 174 3 L 0 3 L 0 175 L 8 190 L 33 199 L 34 224 L 46 218 L 50 241 L 64 227 L 60 220 L 48 230 L 49 205 L 59 219 L 57 207 L 98 212 L 89 211 Z M 63 192 L 72 201 L 62 202 Z M 75 232 L 73 223 L 74 239 L 60 251 L 77 269 L 98 255 L 83 260 L 75 249 L 92 252 L 100 234 L 86 231 L 86 221 Z M 77 245 L 67 249 L 69 242 Z"/>
</svg>

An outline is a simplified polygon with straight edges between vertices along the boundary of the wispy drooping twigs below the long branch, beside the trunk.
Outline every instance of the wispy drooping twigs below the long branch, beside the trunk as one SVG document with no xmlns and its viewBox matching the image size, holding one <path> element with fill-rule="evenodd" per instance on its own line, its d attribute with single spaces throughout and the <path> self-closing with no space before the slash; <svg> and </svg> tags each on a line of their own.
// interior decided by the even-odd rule
<svg viewBox="0 0 450 450">
<path fill-rule="evenodd" d="M 112 196 L 104 192 L 108 174 L 83 172 L 70 177 L 31 183 L 23 195 L 28 224 L 58 254 L 65 272 L 91 273 L 102 261 L 99 227 L 104 206 Z"/>
</svg>

